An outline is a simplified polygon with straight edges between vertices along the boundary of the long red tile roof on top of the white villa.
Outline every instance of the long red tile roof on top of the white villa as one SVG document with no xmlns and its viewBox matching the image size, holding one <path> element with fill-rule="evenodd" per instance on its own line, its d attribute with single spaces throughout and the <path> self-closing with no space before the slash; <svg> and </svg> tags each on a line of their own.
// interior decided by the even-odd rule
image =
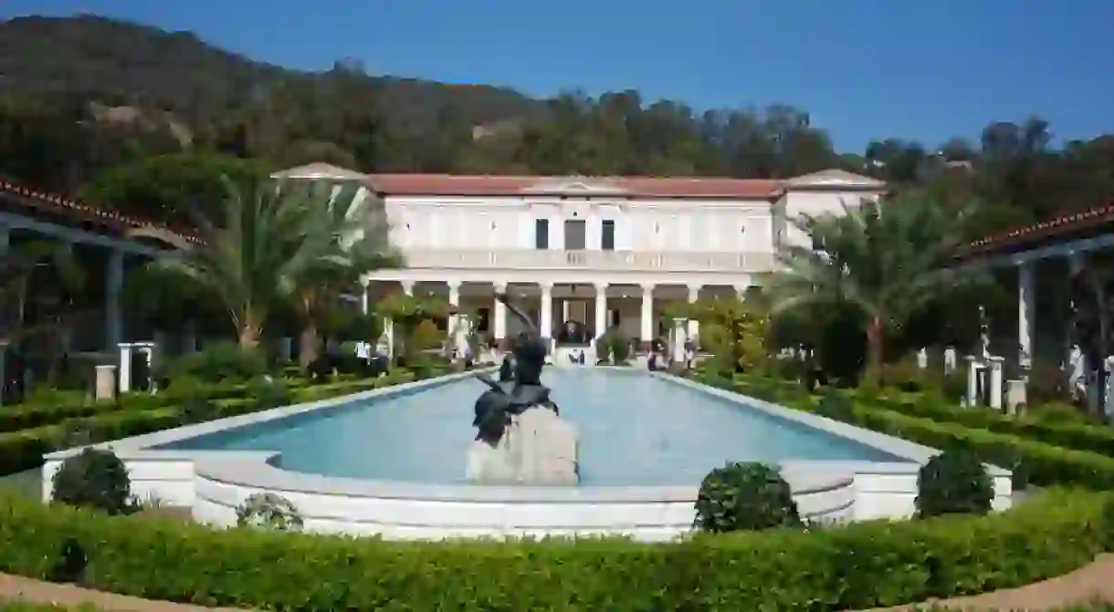
<svg viewBox="0 0 1114 612">
<path fill-rule="evenodd" d="M 781 194 L 778 180 L 739 178 L 664 178 L 664 177 L 537 177 L 537 176 L 463 176 L 393 174 L 368 175 L 368 181 L 380 194 L 390 196 L 516 196 L 521 193 L 544 194 L 558 185 L 577 182 L 593 187 L 614 187 L 633 196 L 647 198 L 745 198 L 772 199 Z M 590 196 L 593 191 L 584 191 Z"/>
</svg>

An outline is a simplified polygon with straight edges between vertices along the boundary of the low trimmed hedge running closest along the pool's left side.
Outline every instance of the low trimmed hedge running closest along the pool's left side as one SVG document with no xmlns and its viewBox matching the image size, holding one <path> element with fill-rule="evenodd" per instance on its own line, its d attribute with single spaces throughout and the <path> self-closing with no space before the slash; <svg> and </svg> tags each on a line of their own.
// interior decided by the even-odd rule
<svg viewBox="0 0 1114 612">
<path fill-rule="evenodd" d="M 293 403 L 314 402 L 340 395 L 349 395 L 370 391 L 381 386 L 409 383 L 414 379 L 411 372 L 398 371 L 382 378 L 364 378 L 351 382 L 338 382 L 323 385 L 295 387 L 291 389 Z M 185 415 L 177 406 L 167 406 L 173 399 L 154 398 L 159 395 L 146 395 L 153 398 L 150 405 L 158 406 L 146 409 L 116 409 L 94 414 L 84 418 L 69 418 L 60 423 L 0 433 L 0 475 L 13 474 L 25 470 L 33 470 L 42 465 L 42 455 L 59 448 L 70 446 L 70 436 L 75 431 L 84 432 L 89 442 L 107 442 L 140 434 L 178 427 L 187 424 Z M 252 398 L 226 397 L 216 399 L 219 409 L 217 418 L 236 416 L 256 409 Z"/>
</svg>

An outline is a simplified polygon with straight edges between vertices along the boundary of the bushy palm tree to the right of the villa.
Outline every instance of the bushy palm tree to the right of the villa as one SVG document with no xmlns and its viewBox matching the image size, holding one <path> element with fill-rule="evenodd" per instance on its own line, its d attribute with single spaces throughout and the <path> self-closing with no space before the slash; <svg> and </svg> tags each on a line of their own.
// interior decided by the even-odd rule
<svg viewBox="0 0 1114 612">
<path fill-rule="evenodd" d="M 869 382 L 878 381 L 889 332 L 900 329 L 941 293 L 976 278 L 949 267 L 974 206 L 957 217 L 912 194 L 889 199 L 883 207 L 844 204 L 841 216 L 792 220 L 819 248 L 783 247 L 779 259 L 784 270 L 774 275 L 770 287 L 774 314 L 842 305 L 862 315 Z"/>
</svg>

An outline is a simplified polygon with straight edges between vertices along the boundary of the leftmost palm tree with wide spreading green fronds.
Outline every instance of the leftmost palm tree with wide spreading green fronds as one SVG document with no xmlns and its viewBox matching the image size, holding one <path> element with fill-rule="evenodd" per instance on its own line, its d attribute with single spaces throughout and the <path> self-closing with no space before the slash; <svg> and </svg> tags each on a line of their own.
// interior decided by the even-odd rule
<svg viewBox="0 0 1114 612">
<path fill-rule="evenodd" d="M 334 248 L 343 228 L 331 213 L 331 186 L 264 182 L 245 196 L 223 179 L 223 219 L 195 214 L 192 241 L 164 229 L 131 233 L 162 239 L 176 251 L 153 264 L 176 270 L 212 292 L 227 309 L 241 347 L 258 344 L 267 318 L 292 299 L 322 266 L 350 266 Z"/>
</svg>

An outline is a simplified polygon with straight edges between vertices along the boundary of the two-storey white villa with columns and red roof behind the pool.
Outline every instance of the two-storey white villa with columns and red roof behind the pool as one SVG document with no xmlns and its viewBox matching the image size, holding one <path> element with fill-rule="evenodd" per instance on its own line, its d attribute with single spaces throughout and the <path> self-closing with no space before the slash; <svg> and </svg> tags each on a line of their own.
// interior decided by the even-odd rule
<svg viewBox="0 0 1114 612">
<path fill-rule="evenodd" d="M 405 257 L 404 268 L 369 275 L 365 299 L 447 297 L 497 345 L 520 332 L 494 299 L 507 292 L 543 334 L 576 322 L 590 340 L 618 326 L 645 347 L 665 332 L 662 304 L 761 287 L 779 245 L 808 239 L 788 219 L 886 190 L 842 170 L 750 180 L 363 175 L 312 164 L 276 177 L 360 181 L 383 203 Z"/>
</svg>

